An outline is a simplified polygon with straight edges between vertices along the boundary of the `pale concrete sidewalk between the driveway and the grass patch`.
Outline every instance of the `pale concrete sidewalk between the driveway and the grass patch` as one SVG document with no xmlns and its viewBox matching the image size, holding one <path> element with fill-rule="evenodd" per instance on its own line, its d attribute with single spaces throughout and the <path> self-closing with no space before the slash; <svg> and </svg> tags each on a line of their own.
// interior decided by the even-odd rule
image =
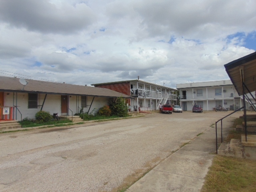
<svg viewBox="0 0 256 192">
<path fill-rule="evenodd" d="M 228 120 L 223 124 L 224 138 L 231 126 Z M 126 192 L 199 192 L 215 155 L 214 126 L 162 161 Z"/>
</svg>

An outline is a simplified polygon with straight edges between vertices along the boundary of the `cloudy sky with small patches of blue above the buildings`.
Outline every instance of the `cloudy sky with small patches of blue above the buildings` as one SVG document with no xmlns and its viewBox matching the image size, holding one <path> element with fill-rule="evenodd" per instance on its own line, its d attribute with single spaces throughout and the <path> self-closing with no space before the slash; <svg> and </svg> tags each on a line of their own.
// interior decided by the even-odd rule
<svg viewBox="0 0 256 192">
<path fill-rule="evenodd" d="M 228 80 L 255 0 L 0 0 L 0 76 L 90 85 Z"/>
</svg>

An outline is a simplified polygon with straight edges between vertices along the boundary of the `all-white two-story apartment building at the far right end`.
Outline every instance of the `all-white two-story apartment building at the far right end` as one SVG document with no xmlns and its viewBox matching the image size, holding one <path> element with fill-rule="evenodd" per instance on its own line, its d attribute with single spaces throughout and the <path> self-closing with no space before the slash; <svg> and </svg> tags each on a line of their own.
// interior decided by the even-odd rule
<svg viewBox="0 0 256 192">
<path fill-rule="evenodd" d="M 204 111 L 213 110 L 216 106 L 228 110 L 242 107 L 242 98 L 238 96 L 231 80 L 177 84 L 177 89 L 180 90 L 183 110 L 192 110 L 194 104 L 203 106 Z"/>
</svg>

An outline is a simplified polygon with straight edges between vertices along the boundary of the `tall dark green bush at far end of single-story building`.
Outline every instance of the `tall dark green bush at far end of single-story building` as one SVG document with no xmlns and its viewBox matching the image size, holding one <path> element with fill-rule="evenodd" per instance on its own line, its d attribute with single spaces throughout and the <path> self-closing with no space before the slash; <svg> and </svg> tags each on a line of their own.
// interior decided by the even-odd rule
<svg viewBox="0 0 256 192">
<path fill-rule="evenodd" d="M 112 115 L 118 117 L 128 116 L 128 106 L 125 103 L 125 99 L 122 97 L 117 98 L 115 102 L 110 102 L 109 107 Z"/>
</svg>

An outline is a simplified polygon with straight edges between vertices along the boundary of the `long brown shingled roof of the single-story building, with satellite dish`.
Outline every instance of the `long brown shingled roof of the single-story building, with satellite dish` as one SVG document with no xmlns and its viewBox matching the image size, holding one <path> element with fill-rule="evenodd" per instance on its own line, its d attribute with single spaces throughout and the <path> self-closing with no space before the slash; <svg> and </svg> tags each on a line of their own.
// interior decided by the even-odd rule
<svg viewBox="0 0 256 192">
<path fill-rule="evenodd" d="M 26 92 L 26 93 L 42 93 L 42 94 L 59 94 L 59 95 L 80 95 L 110 98 L 132 98 L 126 94 L 122 94 L 106 88 L 97 88 L 91 86 L 81 86 L 66 83 L 55 83 L 38 80 L 26 80 L 28 84 L 22 90 L 23 85 L 19 82 L 19 78 L 0 76 L 0 92 Z"/>
</svg>

